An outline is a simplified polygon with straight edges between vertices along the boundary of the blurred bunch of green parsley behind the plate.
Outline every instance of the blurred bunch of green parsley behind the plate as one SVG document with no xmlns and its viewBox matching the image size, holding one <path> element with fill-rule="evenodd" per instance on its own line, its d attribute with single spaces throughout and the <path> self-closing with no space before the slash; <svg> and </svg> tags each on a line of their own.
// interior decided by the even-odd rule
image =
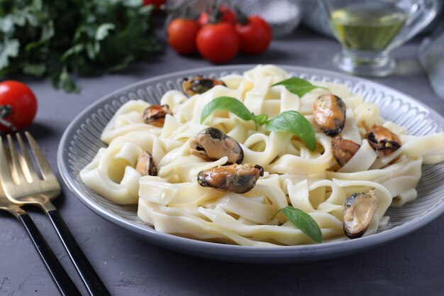
<svg viewBox="0 0 444 296">
<path fill-rule="evenodd" d="M 49 75 L 67 92 L 71 74 L 99 75 L 162 49 L 142 0 L 1 0 L 0 78 Z"/>
</svg>

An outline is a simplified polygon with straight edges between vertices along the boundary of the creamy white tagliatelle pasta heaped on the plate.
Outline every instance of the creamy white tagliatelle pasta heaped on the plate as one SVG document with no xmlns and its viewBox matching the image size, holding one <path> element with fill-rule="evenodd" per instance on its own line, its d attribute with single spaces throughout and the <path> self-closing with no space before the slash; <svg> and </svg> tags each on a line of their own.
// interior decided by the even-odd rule
<svg viewBox="0 0 444 296">
<path fill-rule="evenodd" d="M 313 243 L 277 210 L 291 205 L 308 213 L 321 228 L 324 240 L 345 239 L 343 204 L 350 194 L 374 190 L 377 209 L 365 235 L 387 224 L 387 209 L 402 207 L 416 198 L 416 185 L 423 163 L 444 160 L 444 133 L 408 136 L 406 129 L 379 116 L 379 108 L 363 102 L 343 84 L 313 82 L 316 88 L 303 97 L 282 86 L 272 86 L 289 75 L 279 67 L 258 65 L 243 75 L 222 77 L 203 94 L 187 97 L 168 91 L 161 104 L 172 116 L 163 127 L 143 122 L 141 114 L 150 106 L 130 101 L 116 112 L 104 129 L 101 148 L 81 172 L 83 182 L 116 204 L 138 203 L 138 216 L 157 231 L 192 239 L 237 243 L 245 246 L 274 246 Z M 333 93 L 347 106 L 340 136 L 360 144 L 359 150 L 341 168 L 326 136 L 313 119 L 313 104 L 322 94 Z M 316 148 L 310 150 L 300 138 L 285 131 L 257 128 L 228 111 L 211 114 L 201 124 L 204 106 L 217 97 L 234 97 L 255 114 L 269 118 L 283 111 L 303 114 L 316 131 Z M 379 157 L 365 138 L 365 127 L 385 126 L 401 139 L 401 148 Z M 265 174 L 249 192 L 238 194 L 202 187 L 196 176 L 202 170 L 225 165 L 227 158 L 206 161 L 190 153 L 189 139 L 200 131 L 218 128 L 243 149 L 243 163 L 261 165 Z M 135 163 L 148 150 L 157 164 L 157 176 L 142 176 Z"/>
</svg>

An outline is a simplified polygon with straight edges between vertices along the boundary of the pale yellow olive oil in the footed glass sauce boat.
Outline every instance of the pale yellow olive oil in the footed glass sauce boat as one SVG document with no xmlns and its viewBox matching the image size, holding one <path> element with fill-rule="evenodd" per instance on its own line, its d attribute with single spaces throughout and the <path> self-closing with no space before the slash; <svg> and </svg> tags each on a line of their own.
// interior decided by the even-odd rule
<svg viewBox="0 0 444 296">
<path fill-rule="evenodd" d="M 384 3 L 349 4 L 331 13 L 331 23 L 344 48 L 379 52 L 387 48 L 407 20 L 402 9 Z"/>
</svg>

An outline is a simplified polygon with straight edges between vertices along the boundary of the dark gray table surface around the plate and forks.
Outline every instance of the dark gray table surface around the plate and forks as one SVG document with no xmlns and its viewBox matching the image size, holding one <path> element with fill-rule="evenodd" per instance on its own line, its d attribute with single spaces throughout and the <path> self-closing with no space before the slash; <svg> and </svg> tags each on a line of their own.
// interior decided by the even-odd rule
<svg viewBox="0 0 444 296">
<path fill-rule="evenodd" d="M 394 51 L 396 74 L 372 80 L 444 114 L 444 102 L 433 93 L 416 60 L 419 43 L 416 39 Z M 283 40 L 273 40 L 266 53 L 238 55 L 230 63 L 334 70 L 331 58 L 339 49 L 334 40 L 298 28 Z M 60 137 L 89 104 L 133 82 L 210 65 L 167 48 L 164 55 L 118 75 L 78 80 L 81 94 L 57 91 L 49 80 L 25 78 L 39 102 L 29 131 L 38 138 L 52 168 L 57 168 Z M 55 205 L 112 295 L 444 295 L 444 216 L 401 239 L 355 255 L 313 263 L 255 265 L 211 261 L 153 246 L 96 216 L 65 185 L 63 192 Z M 87 295 L 48 218 L 38 209 L 26 209 Z M 6 212 L 0 213 L 0 295 L 58 295 L 23 226 Z"/>
</svg>

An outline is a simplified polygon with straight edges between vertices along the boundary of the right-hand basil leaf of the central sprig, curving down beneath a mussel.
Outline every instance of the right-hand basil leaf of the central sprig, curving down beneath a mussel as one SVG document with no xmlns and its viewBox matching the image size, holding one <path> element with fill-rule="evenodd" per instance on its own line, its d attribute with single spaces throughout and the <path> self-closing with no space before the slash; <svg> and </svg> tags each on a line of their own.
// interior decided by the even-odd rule
<svg viewBox="0 0 444 296">
<path fill-rule="evenodd" d="M 302 114 L 298 111 L 284 111 L 278 116 L 274 116 L 267 121 L 265 126 L 268 131 L 288 131 L 298 136 L 304 141 L 305 145 L 314 150 L 316 145 L 316 136 L 314 128 Z"/>
</svg>

